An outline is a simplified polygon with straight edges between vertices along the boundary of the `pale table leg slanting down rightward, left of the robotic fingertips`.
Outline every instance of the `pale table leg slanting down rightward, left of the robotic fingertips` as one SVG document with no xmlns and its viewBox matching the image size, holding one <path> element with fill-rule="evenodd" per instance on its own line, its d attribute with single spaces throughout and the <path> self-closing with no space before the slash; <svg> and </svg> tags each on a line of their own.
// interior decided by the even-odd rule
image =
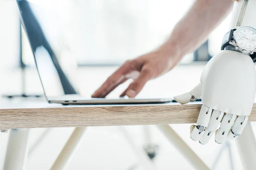
<svg viewBox="0 0 256 170">
<path fill-rule="evenodd" d="M 180 151 L 196 170 L 210 170 L 195 152 L 180 138 L 169 125 L 157 125 L 167 139 Z"/>
</svg>

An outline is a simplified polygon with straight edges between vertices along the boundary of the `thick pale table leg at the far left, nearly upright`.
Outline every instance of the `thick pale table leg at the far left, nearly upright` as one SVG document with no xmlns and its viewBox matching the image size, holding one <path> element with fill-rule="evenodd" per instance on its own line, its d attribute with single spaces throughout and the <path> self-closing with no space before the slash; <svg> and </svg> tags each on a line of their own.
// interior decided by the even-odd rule
<svg viewBox="0 0 256 170">
<path fill-rule="evenodd" d="M 24 170 L 27 158 L 29 129 L 12 129 L 4 161 L 4 170 Z"/>
</svg>

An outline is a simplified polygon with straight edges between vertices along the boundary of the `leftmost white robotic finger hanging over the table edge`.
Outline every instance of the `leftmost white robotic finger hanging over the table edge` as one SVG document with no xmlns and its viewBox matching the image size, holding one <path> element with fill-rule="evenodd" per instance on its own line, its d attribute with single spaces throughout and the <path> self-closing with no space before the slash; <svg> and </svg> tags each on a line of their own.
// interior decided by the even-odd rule
<svg viewBox="0 0 256 170">
<path fill-rule="evenodd" d="M 212 114 L 212 109 L 207 107 L 206 105 L 202 105 L 199 116 L 198 116 L 198 121 L 197 121 L 197 126 L 192 126 L 193 130 L 190 133 L 190 137 L 194 141 L 198 141 L 201 139 L 201 137 L 204 134 L 205 127 L 208 126 L 209 120 Z"/>
</svg>

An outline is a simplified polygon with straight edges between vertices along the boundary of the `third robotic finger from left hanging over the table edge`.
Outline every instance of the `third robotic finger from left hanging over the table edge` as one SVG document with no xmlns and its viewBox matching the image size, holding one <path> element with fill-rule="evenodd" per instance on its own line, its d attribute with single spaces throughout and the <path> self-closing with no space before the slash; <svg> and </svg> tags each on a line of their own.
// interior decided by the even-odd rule
<svg viewBox="0 0 256 170">
<path fill-rule="evenodd" d="M 233 126 L 236 120 L 236 115 L 225 113 L 221 126 L 215 133 L 215 142 L 222 144 L 227 139 L 227 134 L 229 133 L 231 127 Z"/>
</svg>

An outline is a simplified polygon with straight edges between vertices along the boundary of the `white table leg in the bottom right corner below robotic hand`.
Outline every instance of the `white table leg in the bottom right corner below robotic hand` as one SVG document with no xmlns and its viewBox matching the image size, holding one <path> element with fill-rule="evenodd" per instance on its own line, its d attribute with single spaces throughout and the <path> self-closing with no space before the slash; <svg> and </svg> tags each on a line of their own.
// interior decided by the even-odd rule
<svg viewBox="0 0 256 170">
<path fill-rule="evenodd" d="M 256 141 L 250 122 L 247 122 L 243 133 L 235 140 L 244 170 L 255 170 Z"/>
</svg>

